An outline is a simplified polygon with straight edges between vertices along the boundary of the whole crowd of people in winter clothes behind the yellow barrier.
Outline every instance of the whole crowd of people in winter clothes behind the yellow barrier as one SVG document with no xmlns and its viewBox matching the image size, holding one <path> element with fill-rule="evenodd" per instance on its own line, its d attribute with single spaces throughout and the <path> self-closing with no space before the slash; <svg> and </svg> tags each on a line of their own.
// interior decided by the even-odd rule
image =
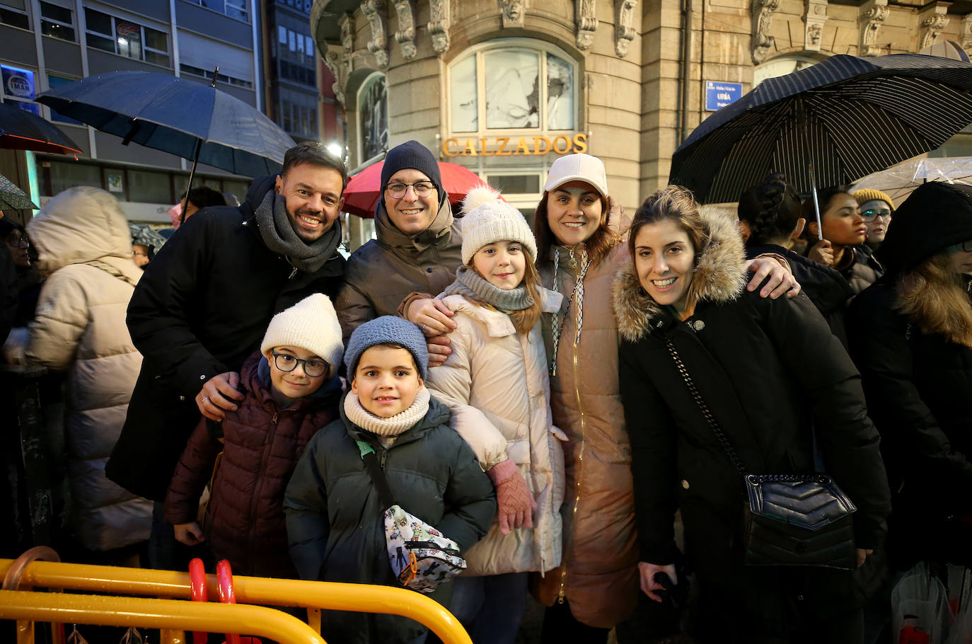
<svg viewBox="0 0 972 644">
<path fill-rule="evenodd" d="M 487 186 L 454 211 L 409 141 L 345 260 L 347 181 L 302 143 L 144 266 L 104 191 L 0 221 L 5 356 L 67 374 L 87 552 L 400 586 L 391 496 L 465 559 L 431 596 L 476 644 L 512 643 L 531 594 L 543 642 L 870 644 L 902 571 L 972 564 L 972 189 L 895 208 L 772 175 L 738 222 L 677 186 L 629 215 L 572 154 L 531 226 Z M 851 565 L 747 563 L 752 473 L 838 484 Z M 433 638 L 343 612 L 322 632 Z"/>
</svg>

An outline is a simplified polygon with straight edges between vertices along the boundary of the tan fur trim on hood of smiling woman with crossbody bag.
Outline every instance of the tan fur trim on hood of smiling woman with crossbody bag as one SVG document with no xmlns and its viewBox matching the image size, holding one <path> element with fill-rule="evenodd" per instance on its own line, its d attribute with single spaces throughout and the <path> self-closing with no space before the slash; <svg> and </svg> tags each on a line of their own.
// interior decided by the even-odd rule
<svg viewBox="0 0 972 644">
<path fill-rule="evenodd" d="M 731 302 L 746 286 L 746 253 L 736 225 L 710 208 L 700 208 L 710 236 L 708 246 L 696 262 L 693 285 L 699 302 Z M 640 340 L 662 308 L 642 289 L 630 259 L 614 275 L 614 316 L 624 340 Z"/>
</svg>

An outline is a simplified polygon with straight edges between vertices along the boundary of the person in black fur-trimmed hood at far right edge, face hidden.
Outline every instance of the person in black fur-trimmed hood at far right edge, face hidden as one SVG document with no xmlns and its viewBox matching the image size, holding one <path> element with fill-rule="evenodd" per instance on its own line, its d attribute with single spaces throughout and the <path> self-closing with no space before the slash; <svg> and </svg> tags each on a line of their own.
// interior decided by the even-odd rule
<svg viewBox="0 0 972 644">
<path fill-rule="evenodd" d="M 878 257 L 847 325 L 894 490 L 888 555 L 972 564 L 972 188 L 921 185 Z"/>
</svg>

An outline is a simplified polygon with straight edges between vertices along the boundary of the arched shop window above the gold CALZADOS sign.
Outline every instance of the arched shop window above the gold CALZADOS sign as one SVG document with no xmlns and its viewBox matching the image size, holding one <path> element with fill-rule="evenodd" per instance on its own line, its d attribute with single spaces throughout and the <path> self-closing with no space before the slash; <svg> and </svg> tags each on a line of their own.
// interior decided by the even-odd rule
<svg viewBox="0 0 972 644">
<path fill-rule="evenodd" d="M 552 46 L 488 43 L 449 66 L 451 131 L 571 130 L 575 78 L 576 64 Z"/>
</svg>

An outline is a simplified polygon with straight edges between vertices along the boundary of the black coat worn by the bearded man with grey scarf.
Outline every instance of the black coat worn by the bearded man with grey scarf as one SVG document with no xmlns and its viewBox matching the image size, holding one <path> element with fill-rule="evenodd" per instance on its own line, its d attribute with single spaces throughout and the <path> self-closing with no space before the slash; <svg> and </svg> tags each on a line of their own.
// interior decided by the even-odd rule
<svg viewBox="0 0 972 644">
<path fill-rule="evenodd" d="M 205 381 L 238 372 L 275 313 L 312 293 L 333 298 L 340 285 L 337 253 L 309 274 L 263 243 L 254 213 L 273 184 L 262 177 L 238 208 L 195 213 L 158 251 L 131 298 L 128 331 L 145 360 L 105 472 L 136 494 L 165 498 L 200 417 L 194 396 Z"/>
</svg>

